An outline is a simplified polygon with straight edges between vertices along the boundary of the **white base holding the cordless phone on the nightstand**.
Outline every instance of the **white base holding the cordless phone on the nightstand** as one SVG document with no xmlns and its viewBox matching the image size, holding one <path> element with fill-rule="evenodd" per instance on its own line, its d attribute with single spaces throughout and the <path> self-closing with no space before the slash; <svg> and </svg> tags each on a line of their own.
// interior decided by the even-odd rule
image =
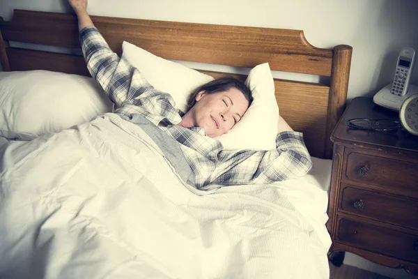
<svg viewBox="0 0 418 279">
<path fill-rule="evenodd" d="M 414 84 L 410 84 L 408 86 L 408 93 L 406 93 L 405 96 L 397 96 L 390 93 L 391 88 L 392 83 L 389 83 L 387 86 L 380 89 L 380 91 L 378 91 L 378 93 L 376 93 L 373 97 L 373 103 L 398 112 L 401 110 L 401 105 L 406 98 L 413 94 L 418 94 L 418 86 Z"/>
</svg>

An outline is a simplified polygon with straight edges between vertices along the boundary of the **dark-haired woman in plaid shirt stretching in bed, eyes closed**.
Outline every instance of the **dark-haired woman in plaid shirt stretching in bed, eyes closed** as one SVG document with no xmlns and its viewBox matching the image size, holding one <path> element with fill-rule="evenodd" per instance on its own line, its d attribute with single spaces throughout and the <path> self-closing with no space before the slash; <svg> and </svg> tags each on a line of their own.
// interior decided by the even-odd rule
<svg viewBox="0 0 418 279">
<path fill-rule="evenodd" d="M 251 105 L 245 84 L 231 78 L 204 84 L 190 97 L 189 110 L 180 114 L 168 93 L 154 89 L 137 68 L 110 50 L 86 12 L 87 0 L 69 2 L 77 14 L 88 70 L 116 104 L 115 113 L 147 130 L 187 183 L 199 189 L 272 183 L 309 171 L 312 163 L 302 134 L 281 118 L 277 149 L 271 151 L 226 151 L 213 139 L 228 133 Z"/>
</svg>

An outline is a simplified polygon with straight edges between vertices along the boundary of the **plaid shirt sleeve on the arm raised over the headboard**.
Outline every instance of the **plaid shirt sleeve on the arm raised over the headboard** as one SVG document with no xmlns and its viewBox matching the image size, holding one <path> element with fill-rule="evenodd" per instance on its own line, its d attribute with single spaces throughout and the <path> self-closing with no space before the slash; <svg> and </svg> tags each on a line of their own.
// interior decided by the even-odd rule
<svg viewBox="0 0 418 279">
<path fill-rule="evenodd" d="M 173 98 L 168 93 L 155 89 L 137 68 L 114 53 L 98 29 L 82 29 L 80 42 L 88 71 L 116 104 L 116 108 L 130 103 L 168 119 L 176 116 Z"/>
</svg>

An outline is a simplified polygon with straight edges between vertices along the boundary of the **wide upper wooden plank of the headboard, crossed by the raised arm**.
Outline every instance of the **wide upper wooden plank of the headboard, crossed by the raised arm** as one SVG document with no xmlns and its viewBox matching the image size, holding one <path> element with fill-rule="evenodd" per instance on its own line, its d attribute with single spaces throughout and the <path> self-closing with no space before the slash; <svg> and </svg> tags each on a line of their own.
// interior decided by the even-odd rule
<svg viewBox="0 0 418 279">
<path fill-rule="evenodd" d="M 332 50 L 311 46 L 300 30 L 98 16 L 92 20 L 118 53 L 128 40 L 166 59 L 248 68 L 269 61 L 272 70 L 331 75 Z M 5 40 L 79 47 L 76 22 L 69 14 L 15 10 L 13 21 L 1 24 L 1 31 Z"/>
</svg>

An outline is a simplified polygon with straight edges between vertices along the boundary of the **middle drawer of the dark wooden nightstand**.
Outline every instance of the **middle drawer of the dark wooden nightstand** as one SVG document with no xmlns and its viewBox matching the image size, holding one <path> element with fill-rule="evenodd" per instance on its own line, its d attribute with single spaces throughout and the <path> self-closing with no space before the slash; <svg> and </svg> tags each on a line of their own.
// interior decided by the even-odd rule
<svg viewBox="0 0 418 279">
<path fill-rule="evenodd" d="M 342 195 L 340 210 L 418 229 L 418 201 L 350 187 L 343 188 Z"/>
</svg>

